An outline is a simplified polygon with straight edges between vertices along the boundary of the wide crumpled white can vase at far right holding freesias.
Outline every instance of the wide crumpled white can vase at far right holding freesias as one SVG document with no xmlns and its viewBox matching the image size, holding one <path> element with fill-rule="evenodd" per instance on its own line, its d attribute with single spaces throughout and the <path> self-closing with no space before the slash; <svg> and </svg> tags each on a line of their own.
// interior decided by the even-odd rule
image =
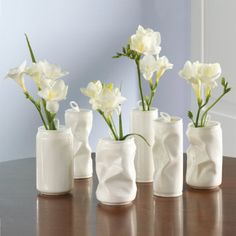
<svg viewBox="0 0 236 236">
<path fill-rule="evenodd" d="M 222 130 L 219 122 L 210 121 L 206 127 L 189 124 L 187 137 L 186 182 L 189 186 L 209 189 L 222 182 Z"/>
</svg>

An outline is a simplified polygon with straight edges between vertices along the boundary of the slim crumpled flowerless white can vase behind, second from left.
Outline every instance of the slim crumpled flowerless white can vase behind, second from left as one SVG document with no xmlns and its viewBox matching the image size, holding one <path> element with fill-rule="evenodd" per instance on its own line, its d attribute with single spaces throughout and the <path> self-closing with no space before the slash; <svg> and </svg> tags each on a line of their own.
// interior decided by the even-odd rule
<svg viewBox="0 0 236 236">
<path fill-rule="evenodd" d="M 89 134 L 92 129 L 93 113 L 91 110 L 68 109 L 65 112 L 65 123 L 71 128 L 74 138 L 74 178 L 90 178 L 93 175 Z"/>
</svg>

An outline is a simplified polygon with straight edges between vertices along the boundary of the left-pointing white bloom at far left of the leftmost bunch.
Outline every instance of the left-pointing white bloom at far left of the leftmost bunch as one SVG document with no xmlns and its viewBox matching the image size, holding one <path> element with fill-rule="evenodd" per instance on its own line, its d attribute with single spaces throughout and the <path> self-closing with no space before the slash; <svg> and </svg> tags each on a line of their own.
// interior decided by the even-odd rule
<svg viewBox="0 0 236 236">
<path fill-rule="evenodd" d="M 24 81 L 24 74 L 26 72 L 26 61 L 24 61 L 19 67 L 10 69 L 8 74 L 6 75 L 6 79 L 13 79 L 20 85 L 20 87 L 24 90 L 24 92 L 27 91 L 25 87 L 25 81 Z"/>
</svg>

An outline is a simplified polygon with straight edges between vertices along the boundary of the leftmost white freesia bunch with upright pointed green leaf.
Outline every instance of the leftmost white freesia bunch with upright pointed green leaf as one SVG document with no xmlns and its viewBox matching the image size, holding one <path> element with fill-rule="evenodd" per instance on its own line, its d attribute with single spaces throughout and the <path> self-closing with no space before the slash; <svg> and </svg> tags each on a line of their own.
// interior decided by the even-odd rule
<svg viewBox="0 0 236 236">
<path fill-rule="evenodd" d="M 40 118 L 46 130 L 56 130 L 56 114 L 59 110 L 59 101 L 66 99 L 68 86 L 60 78 L 67 75 L 59 66 L 47 61 L 36 61 L 29 39 L 25 34 L 27 45 L 32 59 L 28 65 L 24 61 L 19 67 L 10 69 L 7 79 L 14 80 L 22 89 L 29 101 L 39 112 Z M 25 76 L 30 77 L 36 87 L 38 99 L 35 99 L 25 85 Z"/>
</svg>

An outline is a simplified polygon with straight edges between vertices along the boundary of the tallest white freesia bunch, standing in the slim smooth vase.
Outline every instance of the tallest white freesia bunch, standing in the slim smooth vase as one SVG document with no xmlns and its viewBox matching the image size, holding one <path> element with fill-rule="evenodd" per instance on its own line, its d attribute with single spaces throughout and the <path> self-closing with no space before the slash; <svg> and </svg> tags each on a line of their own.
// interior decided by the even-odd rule
<svg viewBox="0 0 236 236">
<path fill-rule="evenodd" d="M 144 29 L 138 26 L 136 34 L 132 35 L 128 44 L 123 47 L 122 52 L 118 52 L 113 58 L 128 57 L 134 60 L 138 73 L 139 93 L 141 97 L 142 110 L 149 111 L 160 78 L 173 65 L 169 63 L 166 56 L 159 57 L 161 35 L 152 29 Z M 150 95 L 143 95 L 141 74 L 149 82 Z"/>
</svg>

